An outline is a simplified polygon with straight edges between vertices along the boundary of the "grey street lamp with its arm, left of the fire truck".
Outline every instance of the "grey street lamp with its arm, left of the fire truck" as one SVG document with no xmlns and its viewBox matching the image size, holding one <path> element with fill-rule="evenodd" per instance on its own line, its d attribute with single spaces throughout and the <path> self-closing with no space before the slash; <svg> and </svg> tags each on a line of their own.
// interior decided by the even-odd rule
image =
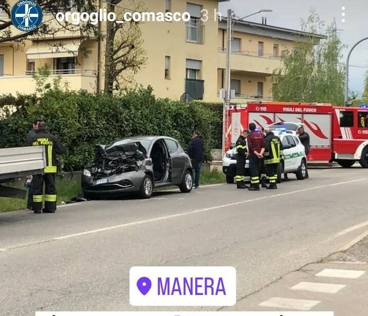
<svg viewBox="0 0 368 316">
<path fill-rule="evenodd" d="M 271 9 L 261 9 L 257 12 L 254 12 L 252 14 L 248 14 L 242 18 L 238 18 L 233 20 L 233 12 L 231 9 L 228 9 L 227 12 L 227 50 L 226 50 L 226 69 L 225 69 L 225 98 L 224 98 L 224 107 L 223 107 L 223 150 L 222 150 L 222 156 L 224 156 L 225 154 L 225 140 L 226 140 L 226 108 L 228 106 L 228 104 L 231 101 L 231 96 L 230 96 L 230 92 L 231 92 L 231 77 L 230 77 L 230 73 L 231 73 L 231 43 L 232 43 L 232 30 L 233 30 L 233 26 L 235 25 L 236 22 L 242 21 L 243 19 L 245 19 L 246 17 L 255 15 L 255 14 L 259 14 L 261 12 L 273 12 Z"/>
</svg>

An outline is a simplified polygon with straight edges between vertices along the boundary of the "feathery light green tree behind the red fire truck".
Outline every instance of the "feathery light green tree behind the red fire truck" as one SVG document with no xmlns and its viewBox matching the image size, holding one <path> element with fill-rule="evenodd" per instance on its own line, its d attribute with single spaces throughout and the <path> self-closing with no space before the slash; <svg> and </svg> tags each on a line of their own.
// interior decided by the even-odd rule
<svg viewBox="0 0 368 316">
<path fill-rule="evenodd" d="M 336 29 L 327 27 L 327 38 L 318 44 L 316 34 L 324 30 L 319 15 L 311 10 L 301 25 L 309 36 L 297 37 L 294 49 L 283 57 L 283 66 L 273 72 L 275 100 L 343 104 L 345 71 L 340 64 L 343 45 Z"/>
</svg>

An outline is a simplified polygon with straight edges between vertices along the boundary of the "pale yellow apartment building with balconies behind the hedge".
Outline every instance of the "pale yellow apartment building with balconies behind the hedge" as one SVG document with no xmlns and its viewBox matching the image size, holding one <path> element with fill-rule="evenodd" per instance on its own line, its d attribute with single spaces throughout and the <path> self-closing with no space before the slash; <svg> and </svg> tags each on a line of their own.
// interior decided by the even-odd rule
<svg viewBox="0 0 368 316">
<path fill-rule="evenodd" d="M 229 0 L 146 0 L 150 12 L 189 12 L 192 18 L 187 23 L 140 25 L 147 62 L 134 74 L 136 83 L 151 85 L 159 97 L 220 101 L 218 93 L 225 81 L 227 22 L 225 18 L 217 21 L 214 13 L 218 12 L 219 2 L 224 1 Z M 207 22 L 201 21 L 203 9 L 209 12 Z M 50 19 L 48 16 L 45 12 L 44 21 Z M 272 71 L 281 66 L 281 56 L 292 49 L 295 36 L 303 38 L 308 34 L 269 26 L 266 21 L 234 25 L 231 87 L 238 102 L 272 98 Z M 31 75 L 40 67 L 47 67 L 49 80 L 61 75 L 70 89 L 102 90 L 104 45 L 103 39 L 98 43 L 93 36 L 85 38 L 80 32 L 67 30 L 42 40 L 28 38 L 22 43 L 0 44 L 0 93 L 33 92 L 35 82 Z"/>
</svg>

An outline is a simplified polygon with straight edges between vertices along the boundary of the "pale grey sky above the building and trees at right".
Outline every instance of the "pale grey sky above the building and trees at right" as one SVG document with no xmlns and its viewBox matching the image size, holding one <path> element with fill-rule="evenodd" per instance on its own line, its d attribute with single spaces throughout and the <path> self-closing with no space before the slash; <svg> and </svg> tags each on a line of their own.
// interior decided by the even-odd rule
<svg viewBox="0 0 368 316">
<path fill-rule="evenodd" d="M 345 9 L 342 10 L 342 7 Z M 227 9 L 233 9 L 235 15 L 240 17 L 261 9 L 271 9 L 273 12 L 254 15 L 247 21 L 261 23 L 262 16 L 267 16 L 268 25 L 297 30 L 301 29 L 300 19 L 307 18 L 311 8 L 316 10 L 326 25 L 333 23 L 336 18 L 338 34 L 347 46 L 342 51 L 342 62 L 345 63 L 348 50 L 360 39 L 368 37 L 368 0 L 230 0 L 219 5 L 223 15 L 226 15 Z M 342 22 L 342 18 L 345 22 Z M 354 49 L 349 63 L 352 65 L 349 67 L 349 90 L 361 92 L 364 73 L 368 70 L 368 40 Z"/>
</svg>

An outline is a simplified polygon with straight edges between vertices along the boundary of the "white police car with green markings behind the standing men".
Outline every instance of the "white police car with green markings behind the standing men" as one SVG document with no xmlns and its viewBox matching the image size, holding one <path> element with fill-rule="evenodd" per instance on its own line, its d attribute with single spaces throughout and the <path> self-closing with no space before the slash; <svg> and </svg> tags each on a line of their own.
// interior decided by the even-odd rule
<svg viewBox="0 0 368 316">
<path fill-rule="evenodd" d="M 295 173 L 298 180 L 304 180 L 307 172 L 307 157 L 305 155 L 304 146 L 299 141 L 299 137 L 296 134 L 297 128 L 301 124 L 293 124 L 294 126 L 288 126 L 292 130 L 286 130 L 286 127 L 280 127 L 278 124 L 270 125 L 269 128 L 272 132 L 279 136 L 283 145 L 283 157 L 278 166 L 278 180 L 281 182 L 281 175 L 283 173 Z M 234 176 L 236 175 L 236 149 L 232 148 L 228 150 L 223 159 L 223 172 L 226 175 L 227 183 L 234 183 Z M 250 176 L 249 161 L 246 160 L 245 175 Z"/>
</svg>

